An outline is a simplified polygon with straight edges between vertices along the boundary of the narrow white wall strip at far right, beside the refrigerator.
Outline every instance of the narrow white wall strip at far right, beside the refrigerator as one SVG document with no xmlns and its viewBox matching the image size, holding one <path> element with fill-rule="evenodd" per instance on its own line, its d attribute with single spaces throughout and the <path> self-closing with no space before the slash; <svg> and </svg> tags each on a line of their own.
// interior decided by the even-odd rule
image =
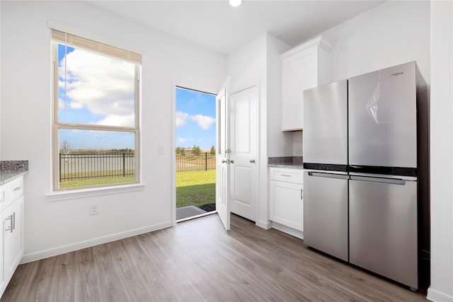
<svg viewBox="0 0 453 302">
<path fill-rule="evenodd" d="M 431 2 L 432 301 L 453 301 L 453 4 Z"/>
</svg>

